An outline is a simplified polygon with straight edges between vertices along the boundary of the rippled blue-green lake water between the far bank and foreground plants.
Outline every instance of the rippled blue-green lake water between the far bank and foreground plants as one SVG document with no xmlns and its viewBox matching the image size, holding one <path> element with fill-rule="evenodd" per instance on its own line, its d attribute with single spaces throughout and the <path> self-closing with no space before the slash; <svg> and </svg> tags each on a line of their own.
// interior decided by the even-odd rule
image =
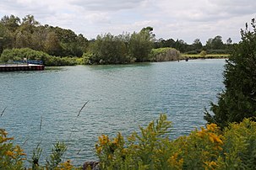
<svg viewBox="0 0 256 170">
<path fill-rule="evenodd" d="M 160 113 L 172 120 L 173 138 L 188 135 L 205 124 L 204 107 L 224 88 L 224 64 L 219 59 L 0 72 L 0 113 L 7 107 L 0 127 L 29 158 L 39 142 L 45 159 L 55 141 L 64 141 L 65 158 L 76 165 L 96 159 L 99 135 L 127 136 Z"/>
</svg>

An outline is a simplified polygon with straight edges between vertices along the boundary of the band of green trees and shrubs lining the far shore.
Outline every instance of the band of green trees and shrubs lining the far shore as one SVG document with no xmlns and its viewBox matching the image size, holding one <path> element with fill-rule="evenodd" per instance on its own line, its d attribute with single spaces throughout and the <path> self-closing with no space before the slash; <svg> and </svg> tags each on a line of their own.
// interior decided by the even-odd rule
<svg viewBox="0 0 256 170">
<path fill-rule="evenodd" d="M 230 38 L 224 43 L 220 35 L 210 38 L 205 45 L 199 39 L 195 39 L 191 45 L 184 40 L 172 38 L 156 40 L 151 27 L 122 35 L 106 33 L 87 40 L 84 35 L 76 35 L 70 29 L 41 25 L 33 15 L 26 15 L 23 19 L 14 15 L 3 16 L 0 20 L 0 54 L 12 49 L 37 50 L 51 58 L 46 63 L 47 66 L 182 60 L 182 57 L 173 57 L 173 53 L 172 57 L 167 57 L 166 50 L 158 50 L 161 48 L 176 49 L 182 56 L 188 57 L 206 51 L 211 58 L 218 57 L 216 54 L 229 54 L 232 45 Z M 159 53 L 161 51 L 162 54 Z M 27 58 L 31 59 L 30 56 Z M 3 61 L 1 58 L 0 60 Z"/>
</svg>

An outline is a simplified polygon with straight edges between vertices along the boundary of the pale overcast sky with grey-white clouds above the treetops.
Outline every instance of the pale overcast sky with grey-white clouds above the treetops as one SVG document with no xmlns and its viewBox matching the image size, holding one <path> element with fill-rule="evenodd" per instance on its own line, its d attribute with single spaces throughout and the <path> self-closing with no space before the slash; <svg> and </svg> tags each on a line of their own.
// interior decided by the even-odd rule
<svg viewBox="0 0 256 170">
<path fill-rule="evenodd" d="M 184 40 L 221 35 L 240 40 L 240 29 L 256 17 L 255 0 L 1 0 L 0 17 L 34 15 L 40 24 L 72 29 L 87 39 L 138 32 L 151 26 L 156 38 Z"/>
</svg>

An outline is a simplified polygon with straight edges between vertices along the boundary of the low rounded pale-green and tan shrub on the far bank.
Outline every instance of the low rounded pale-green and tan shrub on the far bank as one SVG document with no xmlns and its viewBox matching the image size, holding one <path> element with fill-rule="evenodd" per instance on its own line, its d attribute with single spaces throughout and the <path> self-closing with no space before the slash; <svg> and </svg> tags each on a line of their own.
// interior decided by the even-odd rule
<svg viewBox="0 0 256 170">
<path fill-rule="evenodd" d="M 181 59 L 180 52 L 169 47 L 152 49 L 150 54 L 151 61 L 177 61 Z"/>
</svg>

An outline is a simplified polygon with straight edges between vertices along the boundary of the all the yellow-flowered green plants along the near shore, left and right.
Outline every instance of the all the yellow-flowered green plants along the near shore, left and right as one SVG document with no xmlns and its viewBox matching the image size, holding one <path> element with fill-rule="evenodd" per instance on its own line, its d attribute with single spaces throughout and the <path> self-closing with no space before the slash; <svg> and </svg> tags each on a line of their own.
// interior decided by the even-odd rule
<svg viewBox="0 0 256 170">
<path fill-rule="evenodd" d="M 245 119 L 232 123 L 225 130 L 215 124 L 193 130 L 189 135 L 172 139 L 171 122 L 161 114 L 140 133 L 133 132 L 127 139 L 120 133 L 110 138 L 101 135 L 95 145 L 101 169 L 253 169 L 256 152 L 256 123 Z M 14 146 L 5 130 L 0 130 L 0 168 L 24 169 L 82 169 L 70 160 L 63 160 L 67 147 L 57 142 L 45 164 L 40 162 L 41 148 L 26 157 L 20 146 Z M 87 168 L 87 169 L 90 169 Z"/>
</svg>

